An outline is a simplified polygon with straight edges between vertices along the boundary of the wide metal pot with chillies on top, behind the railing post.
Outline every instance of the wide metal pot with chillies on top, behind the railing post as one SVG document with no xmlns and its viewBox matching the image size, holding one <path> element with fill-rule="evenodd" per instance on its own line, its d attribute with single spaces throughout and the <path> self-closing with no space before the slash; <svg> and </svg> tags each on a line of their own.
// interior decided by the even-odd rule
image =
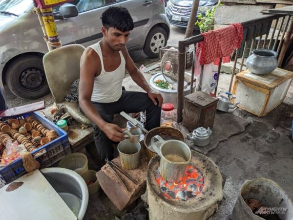
<svg viewBox="0 0 293 220">
<path fill-rule="evenodd" d="M 189 73 L 186 73 L 189 74 Z M 190 75 L 190 74 L 189 74 Z M 155 81 L 156 80 L 165 80 L 164 76 L 162 73 L 157 73 L 155 75 L 153 75 L 150 80 L 149 80 L 149 84 L 150 86 L 154 89 L 160 92 L 160 94 L 163 96 L 163 103 L 172 103 L 174 105 L 174 108 L 177 109 L 177 85 L 174 84 L 171 86 L 171 88 L 165 89 L 165 88 L 159 88 L 155 85 Z M 193 90 L 195 88 L 193 87 Z M 190 86 L 187 85 L 187 83 L 185 82 L 184 85 L 184 95 L 188 95 L 189 94 L 189 90 L 190 90 Z"/>
</svg>

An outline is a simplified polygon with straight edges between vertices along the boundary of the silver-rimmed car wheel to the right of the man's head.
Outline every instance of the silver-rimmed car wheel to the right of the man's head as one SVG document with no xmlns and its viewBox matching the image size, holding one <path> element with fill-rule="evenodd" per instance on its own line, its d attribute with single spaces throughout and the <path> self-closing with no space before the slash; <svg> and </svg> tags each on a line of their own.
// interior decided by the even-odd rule
<svg viewBox="0 0 293 220">
<path fill-rule="evenodd" d="M 167 33 L 164 28 L 156 26 L 148 33 L 144 46 L 144 53 L 149 58 L 157 58 L 159 49 L 166 46 Z"/>
</svg>

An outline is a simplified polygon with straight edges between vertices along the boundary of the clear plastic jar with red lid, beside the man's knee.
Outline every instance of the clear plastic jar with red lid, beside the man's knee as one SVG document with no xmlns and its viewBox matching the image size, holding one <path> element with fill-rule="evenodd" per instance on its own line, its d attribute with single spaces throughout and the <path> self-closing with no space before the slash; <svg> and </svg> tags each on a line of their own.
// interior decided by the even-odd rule
<svg viewBox="0 0 293 220">
<path fill-rule="evenodd" d="M 177 121 L 177 111 L 171 103 L 162 105 L 161 111 L 161 126 L 174 127 Z"/>
</svg>

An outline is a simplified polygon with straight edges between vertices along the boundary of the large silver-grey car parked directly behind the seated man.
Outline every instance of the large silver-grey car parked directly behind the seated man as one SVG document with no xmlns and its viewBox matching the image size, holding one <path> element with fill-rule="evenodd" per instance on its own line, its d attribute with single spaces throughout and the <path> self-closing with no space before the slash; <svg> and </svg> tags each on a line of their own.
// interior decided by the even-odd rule
<svg viewBox="0 0 293 220">
<path fill-rule="evenodd" d="M 66 44 L 94 44 L 103 37 L 102 13 L 109 6 L 126 7 L 134 22 L 126 43 L 150 58 L 166 46 L 170 33 L 164 0 L 73 0 L 53 8 L 59 37 Z M 0 76 L 15 95 L 35 99 L 49 92 L 42 66 L 48 51 L 32 0 L 0 0 Z"/>
</svg>

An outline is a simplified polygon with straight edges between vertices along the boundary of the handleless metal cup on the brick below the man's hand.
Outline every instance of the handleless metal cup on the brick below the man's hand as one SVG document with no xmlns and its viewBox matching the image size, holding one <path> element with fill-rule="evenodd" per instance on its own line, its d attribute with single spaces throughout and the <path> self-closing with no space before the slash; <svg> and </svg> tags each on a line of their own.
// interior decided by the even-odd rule
<svg viewBox="0 0 293 220">
<path fill-rule="evenodd" d="M 124 169 L 132 170 L 140 165 L 140 143 L 131 143 L 130 140 L 121 141 L 118 144 L 118 152 L 121 165 Z"/>
</svg>

